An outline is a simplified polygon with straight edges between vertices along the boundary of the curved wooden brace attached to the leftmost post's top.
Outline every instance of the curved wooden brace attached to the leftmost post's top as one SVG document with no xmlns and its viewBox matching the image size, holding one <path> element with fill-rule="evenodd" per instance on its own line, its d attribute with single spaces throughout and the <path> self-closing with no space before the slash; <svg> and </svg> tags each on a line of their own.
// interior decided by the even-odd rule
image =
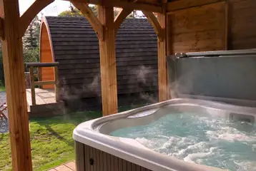
<svg viewBox="0 0 256 171">
<path fill-rule="evenodd" d="M 26 32 L 26 28 L 28 28 L 31 21 L 34 17 L 39 14 L 39 12 L 44 9 L 46 6 L 54 2 L 54 0 L 36 0 L 29 7 L 29 9 L 24 12 L 24 14 L 19 18 L 19 33 L 22 37 Z"/>
</svg>

